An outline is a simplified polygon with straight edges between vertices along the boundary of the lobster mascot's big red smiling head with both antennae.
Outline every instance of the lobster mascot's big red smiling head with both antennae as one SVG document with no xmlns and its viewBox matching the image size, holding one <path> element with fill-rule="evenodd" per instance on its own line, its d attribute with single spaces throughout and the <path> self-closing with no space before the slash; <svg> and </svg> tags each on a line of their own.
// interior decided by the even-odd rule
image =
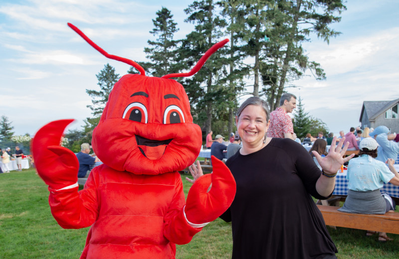
<svg viewBox="0 0 399 259">
<path fill-rule="evenodd" d="M 77 27 L 68 25 L 106 57 L 140 72 L 125 75 L 115 84 L 93 132 L 93 150 L 101 161 L 137 174 L 171 172 L 190 165 L 200 151 L 201 130 L 193 124 L 183 86 L 169 78 L 195 74 L 228 39 L 213 45 L 189 73 L 158 78 L 145 76 L 144 69 L 132 60 L 109 55 Z"/>
</svg>

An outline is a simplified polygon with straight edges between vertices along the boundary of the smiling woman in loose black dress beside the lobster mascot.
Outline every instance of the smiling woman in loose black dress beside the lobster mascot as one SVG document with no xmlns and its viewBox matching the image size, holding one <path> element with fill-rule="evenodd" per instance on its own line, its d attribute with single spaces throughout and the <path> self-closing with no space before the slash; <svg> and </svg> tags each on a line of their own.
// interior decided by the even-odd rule
<svg viewBox="0 0 399 259">
<path fill-rule="evenodd" d="M 266 137 L 268 119 L 267 104 L 257 97 L 247 99 L 236 114 L 242 148 L 226 165 L 237 191 L 220 216 L 231 221 L 232 258 L 336 258 L 338 251 L 310 195 L 326 199 L 333 192 L 335 174 L 349 160 L 342 158 L 344 141 L 335 148 L 334 139 L 326 158 L 314 154 L 321 172 L 300 144 Z"/>
</svg>

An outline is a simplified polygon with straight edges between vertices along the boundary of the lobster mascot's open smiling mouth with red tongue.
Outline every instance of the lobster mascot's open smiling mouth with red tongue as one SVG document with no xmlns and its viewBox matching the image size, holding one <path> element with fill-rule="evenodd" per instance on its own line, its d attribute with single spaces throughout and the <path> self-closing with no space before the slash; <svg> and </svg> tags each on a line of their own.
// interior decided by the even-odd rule
<svg viewBox="0 0 399 259">
<path fill-rule="evenodd" d="M 160 158 L 165 153 L 165 149 L 172 139 L 173 138 L 166 140 L 152 140 L 136 135 L 136 142 L 140 152 L 151 160 Z"/>
</svg>

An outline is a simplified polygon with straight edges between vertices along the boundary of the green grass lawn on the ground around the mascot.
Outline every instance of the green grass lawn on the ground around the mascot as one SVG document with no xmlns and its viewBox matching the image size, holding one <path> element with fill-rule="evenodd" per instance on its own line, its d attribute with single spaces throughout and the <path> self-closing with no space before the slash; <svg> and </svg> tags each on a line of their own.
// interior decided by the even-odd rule
<svg viewBox="0 0 399 259">
<path fill-rule="evenodd" d="M 182 175 L 183 180 L 187 175 Z M 184 190 L 191 186 L 186 180 Z M 85 244 L 88 228 L 66 230 L 58 226 L 48 206 L 47 186 L 28 169 L 0 174 L 0 258 L 76 259 Z M 366 231 L 329 228 L 338 247 L 339 259 L 398 259 L 399 235 L 388 234 L 392 242 L 380 243 Z M 231 225 L 220 219 L 203 228 L 184 246 L 177 246 L 179 259 L 231 257 Z"/>
</svg>

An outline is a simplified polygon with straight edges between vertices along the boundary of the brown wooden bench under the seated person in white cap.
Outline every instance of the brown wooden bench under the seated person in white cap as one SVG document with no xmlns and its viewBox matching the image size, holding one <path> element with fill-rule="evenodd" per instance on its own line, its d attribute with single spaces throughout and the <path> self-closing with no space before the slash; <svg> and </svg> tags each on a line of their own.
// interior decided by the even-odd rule
<svg viewBox="0 0 399 259">
<path fill-rule="evenodd" d="M 399 213 L 387 212 L 384 215 L 356 214 L 340 212 L 340 207 L 316 205 L 323 214 L 326 225 L 350 229 L 399 234 Z"/>
</svg>

